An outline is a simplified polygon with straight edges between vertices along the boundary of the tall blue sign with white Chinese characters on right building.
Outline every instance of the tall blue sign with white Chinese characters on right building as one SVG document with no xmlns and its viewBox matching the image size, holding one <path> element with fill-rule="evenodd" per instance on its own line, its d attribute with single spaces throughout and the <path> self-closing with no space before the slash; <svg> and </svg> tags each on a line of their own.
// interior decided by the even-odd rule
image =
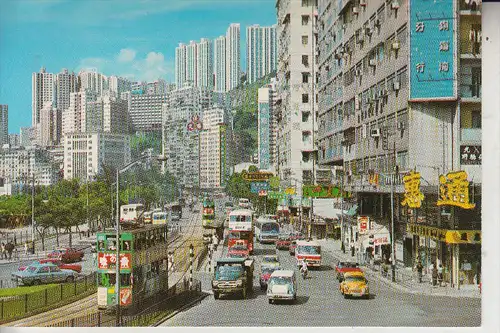
<svg viewBox="0 0 500 333">
<path fill-rule="evenodd" d="M 410 0 L 410 100 L 454 100 L 455 0 Z"/>
</svg>

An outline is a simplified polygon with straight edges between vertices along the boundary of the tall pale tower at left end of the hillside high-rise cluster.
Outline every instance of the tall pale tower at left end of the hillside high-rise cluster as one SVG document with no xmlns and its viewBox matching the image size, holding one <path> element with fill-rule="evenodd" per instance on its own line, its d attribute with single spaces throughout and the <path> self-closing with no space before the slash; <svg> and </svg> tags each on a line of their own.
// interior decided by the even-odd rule
<svg viewBox="0 0 500 333">
<path fill-rule="evenodd" d="M 40 123 L 40 110 L 45 103 L 56 102 L 54 74 L 47 73 L 45 67 L 42 67 L 39 73 L 33 73 L 31 76 L 31 94 L 31 123 L 36 131 L 36 127 Z"/>
</svg>

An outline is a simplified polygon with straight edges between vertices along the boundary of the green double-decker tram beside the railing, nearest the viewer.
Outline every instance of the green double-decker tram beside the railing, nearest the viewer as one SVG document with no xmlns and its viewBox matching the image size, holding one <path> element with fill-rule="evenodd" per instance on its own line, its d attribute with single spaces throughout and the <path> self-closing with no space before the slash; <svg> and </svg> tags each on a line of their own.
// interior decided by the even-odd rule
<svg viewBox="0 0 500 333">
<path fill-rule="evenodd" d="M 120 258 L 116 260 L 116 246 Z M 120 232 L 97 233 L 97 306 L 114 309 L 116 306 L 116 264 L 120 265 L 120 305 L 134 311 L 135 304 L 166 292 L 168 274 L 167 225 L 145 225 Z"/>
</svg>

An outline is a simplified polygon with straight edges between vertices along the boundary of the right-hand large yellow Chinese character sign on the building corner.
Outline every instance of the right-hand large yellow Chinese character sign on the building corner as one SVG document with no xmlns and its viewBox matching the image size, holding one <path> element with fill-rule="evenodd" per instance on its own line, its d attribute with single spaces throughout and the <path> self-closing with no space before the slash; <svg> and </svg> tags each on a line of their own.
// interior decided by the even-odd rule
<svg viewBox="0 0 500 333">
<path fill-rule="evenodd" d="M 469 202 L 469 181 L 465 171 L 449 172 L 439 176 L 438 206 L 457 206 L 473 209 L 476 204 Z"/>
</svg>

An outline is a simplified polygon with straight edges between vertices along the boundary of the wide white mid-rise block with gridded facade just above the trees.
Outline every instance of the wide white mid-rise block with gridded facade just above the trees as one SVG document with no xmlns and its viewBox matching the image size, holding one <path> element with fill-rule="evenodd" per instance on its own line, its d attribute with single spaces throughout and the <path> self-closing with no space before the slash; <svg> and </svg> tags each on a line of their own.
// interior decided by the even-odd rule
<svg viewBox="0 0 500 333">
<path fill-rule="evenodd" d="M 104 167 L 130 163 L 130 136 L 113 133 L 70 133 L 64 137 L 64 179 L 83 181 Z"/>
</svg>

